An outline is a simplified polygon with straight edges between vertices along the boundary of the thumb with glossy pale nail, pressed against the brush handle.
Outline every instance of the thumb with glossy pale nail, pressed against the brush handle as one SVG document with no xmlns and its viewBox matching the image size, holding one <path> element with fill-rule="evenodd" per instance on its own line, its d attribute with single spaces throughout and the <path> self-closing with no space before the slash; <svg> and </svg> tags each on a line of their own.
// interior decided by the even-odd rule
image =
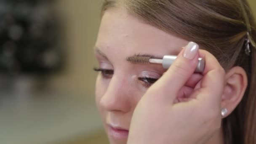
<svg viewBox="0 0 256 144">
<path fill-rule="evenodd" d="M 163 101 L 168 103 L 171 101 L 173 103 L 176 96 L 178 96 L 179 90 L 195 72 L 199 57 L 198 50 L 199 45 L 189 42 L 179 53 L 171 67 L 165 72 L 165 75 L 152 85 L 153 89 L 161 93 L 160 97 L 163 98 Z"/>
</svg>

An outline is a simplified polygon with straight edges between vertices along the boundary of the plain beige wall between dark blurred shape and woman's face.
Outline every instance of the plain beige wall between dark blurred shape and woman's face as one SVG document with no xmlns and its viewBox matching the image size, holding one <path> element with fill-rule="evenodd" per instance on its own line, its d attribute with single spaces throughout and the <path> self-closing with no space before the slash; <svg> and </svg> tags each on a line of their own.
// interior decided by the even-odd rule
<svg viewBox="0 0 256 144">
<path fill-rule="evenodd" d="M 249 2 L 255 10 L 256 0 Z M 53 80 L 54 87 L 93 97 L 96 73 L 92 68 L 96 62 L 92 48 L 100 23 L 100 7 L 101 0 L 59 0 L 56 4 L 65 18 L 69 61 L 67 71 Z"/>
</svg>

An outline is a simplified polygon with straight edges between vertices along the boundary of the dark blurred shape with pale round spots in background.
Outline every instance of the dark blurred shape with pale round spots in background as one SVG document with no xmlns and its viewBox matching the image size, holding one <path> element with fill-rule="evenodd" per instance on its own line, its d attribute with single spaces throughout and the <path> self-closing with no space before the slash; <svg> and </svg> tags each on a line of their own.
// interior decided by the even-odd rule
<svg viewBox="0 0 256 144">
<path fill-rule="evenodd" d="M 49 74 L 61 68 L 54 0 L 0 0 L 0 72 Z"/>
</svg>

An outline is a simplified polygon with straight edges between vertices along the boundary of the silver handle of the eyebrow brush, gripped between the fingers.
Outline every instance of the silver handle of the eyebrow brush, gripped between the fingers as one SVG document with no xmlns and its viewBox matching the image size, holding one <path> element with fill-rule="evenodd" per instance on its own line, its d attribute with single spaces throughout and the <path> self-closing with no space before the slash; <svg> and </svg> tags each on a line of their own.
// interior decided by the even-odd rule
<svg viewBox="0 0 256 144">
<path fill-rule="evenodd" d="M 168 69 L 171 67 L 171 64 L 173 64 L 173 61 L 177 58 L 177 56 L 172 56 L 172 55 L 166 55 L 163 57 L 163 68 Z M 205 69 L 205 59 L 203 58 L 198 58 L 198 64 L 195 69 L 195 72 L 202 73 Z"/>
</svg>

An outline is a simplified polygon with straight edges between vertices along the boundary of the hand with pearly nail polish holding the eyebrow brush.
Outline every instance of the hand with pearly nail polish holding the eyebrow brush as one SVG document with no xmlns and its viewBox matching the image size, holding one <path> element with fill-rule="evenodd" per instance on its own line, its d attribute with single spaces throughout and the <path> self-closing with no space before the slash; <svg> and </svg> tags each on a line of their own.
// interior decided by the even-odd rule
<svg viewBox="0 0 256 144">
<path fill-rule="evenodd" d="M 205 57 L 201 80 L 194 80 L 198 57 Z M 203 144 L 221 127 L 225 71 L 216 58 L 189 43 L 141 98 L 133 113 L 127 144 Z M 190 81 L 190 82 L 189 82 Z M 175 102 L 184 85 L 194 85 Z"/>
</svg>

